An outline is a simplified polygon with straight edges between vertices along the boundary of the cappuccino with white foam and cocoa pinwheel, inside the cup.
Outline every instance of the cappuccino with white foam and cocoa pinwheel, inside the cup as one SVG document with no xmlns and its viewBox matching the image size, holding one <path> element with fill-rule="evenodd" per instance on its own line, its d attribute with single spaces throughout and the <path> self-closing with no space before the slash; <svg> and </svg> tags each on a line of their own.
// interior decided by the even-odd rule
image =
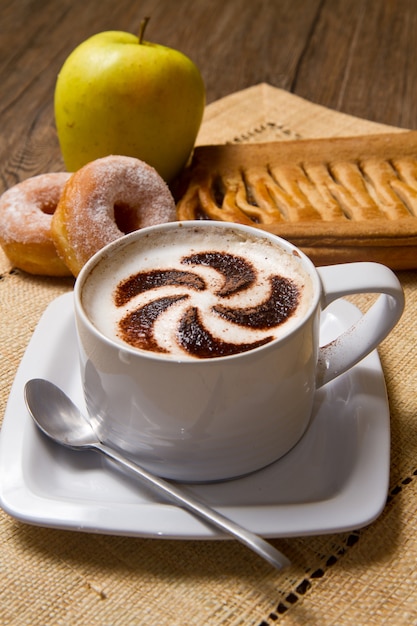
<svg viewBox="0 0 417 626">
<path fill-rule="evenodd" d="M 290 333 L 313 301 L 297 254 L 233 229 L 150 231 L 101 258 L 82 291 L 108 338 L 177 360 L 226 357 Z"/>
</svg>

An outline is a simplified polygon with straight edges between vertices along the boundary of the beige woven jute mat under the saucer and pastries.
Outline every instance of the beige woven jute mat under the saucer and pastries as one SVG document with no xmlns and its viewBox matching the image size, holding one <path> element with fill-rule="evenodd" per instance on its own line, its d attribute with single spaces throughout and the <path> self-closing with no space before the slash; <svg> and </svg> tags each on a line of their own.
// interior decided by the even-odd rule
<svg viewBox="0 0 417 626">
<path fill-rule="evenodd" d="M 198 142 L 393 130 L 257 85 L 208 106 Z M 3 416 L 34 328 L 73 282 L 30 277 L 4 256 L 0 274 Z M 388 500 L 375 522 L 348 533 L 273 540 L 293 562 L 277 572 L 235 541 L 86 534 L 1 512 L 0 624 L 417 624 L 417 273 L 398 275 L 405 313 L 379 350 L 392 443 Z"/>
</svg>

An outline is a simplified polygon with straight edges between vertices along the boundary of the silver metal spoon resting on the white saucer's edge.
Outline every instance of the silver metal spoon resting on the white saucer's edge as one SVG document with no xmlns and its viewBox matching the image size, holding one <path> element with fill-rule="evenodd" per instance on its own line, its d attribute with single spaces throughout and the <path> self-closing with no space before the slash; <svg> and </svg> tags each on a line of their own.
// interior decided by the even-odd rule
<svg viewBox="0 0 417 626">
<path fill-rule="evenodd" d="M 26 405 L 37 426 L 51 439 L 75 450 L 92 449 L 110 457 L 128 468 L 143 483 L 169 500 L 188 509 L 197 516 L 233 535 L 248 548 L 259 554 L 277 569 L 290 561 L 270 543 L 236 524 L 229 518 L 210 508 L 195 496 L 191 496 L 176 485 L 154 476 L 119 452 L 101 443 L 89 420 L 65 393 L 53 383 L 43 379 L 29 380 L 24 390 Z"/>
</svg>

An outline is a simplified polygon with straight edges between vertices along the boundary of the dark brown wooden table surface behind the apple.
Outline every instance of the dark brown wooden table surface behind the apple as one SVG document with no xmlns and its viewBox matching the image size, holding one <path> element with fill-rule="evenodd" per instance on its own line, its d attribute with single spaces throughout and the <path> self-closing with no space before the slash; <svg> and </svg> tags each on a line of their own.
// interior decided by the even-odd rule
<svg viewBox="0 0 417 626">
<path fill-rule="evenodd" d="M 207 103 L 267 82 L 369 120 L 417 127 L 417 4 L 411 0 L 2 0 L 0 192 L 62 167 L 57 73 L 102 30 L 137 32 L 199 66 Z"/>
</svg>

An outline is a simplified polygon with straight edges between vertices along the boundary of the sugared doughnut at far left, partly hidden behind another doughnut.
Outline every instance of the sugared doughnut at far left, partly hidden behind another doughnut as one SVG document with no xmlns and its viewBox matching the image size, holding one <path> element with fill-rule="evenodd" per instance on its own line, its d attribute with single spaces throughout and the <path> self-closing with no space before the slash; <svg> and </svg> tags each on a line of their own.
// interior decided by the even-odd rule
<svg viewBox="0 0 417 626">
<path fill-rule="evenodd" d="M 30 274 L 70 276 L 51 237 L 52 215 L 70 174 L 40 174 L 0 198 L 0 245 L 10 261 Z"/>
</svg>

